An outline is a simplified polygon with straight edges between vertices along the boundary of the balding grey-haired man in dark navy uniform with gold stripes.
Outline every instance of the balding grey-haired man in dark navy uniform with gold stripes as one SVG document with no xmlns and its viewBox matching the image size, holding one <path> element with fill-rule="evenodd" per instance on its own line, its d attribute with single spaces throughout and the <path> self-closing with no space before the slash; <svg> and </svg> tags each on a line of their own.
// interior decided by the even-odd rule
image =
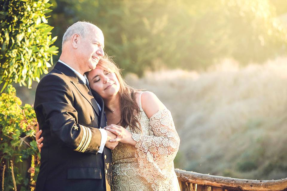
<svg viewBox="0 0 287 191">
<path fill-rule="evenodd" d="M 34 109 L 43 147 L 36 190 L 110 190 L 116 136 L 106 126 L 104 105 L 91 93 L 85 72 L 102 56 L 102 31 L 88 22 L 67 29 L 59 61 L 36 89 Z"/>
</svg>

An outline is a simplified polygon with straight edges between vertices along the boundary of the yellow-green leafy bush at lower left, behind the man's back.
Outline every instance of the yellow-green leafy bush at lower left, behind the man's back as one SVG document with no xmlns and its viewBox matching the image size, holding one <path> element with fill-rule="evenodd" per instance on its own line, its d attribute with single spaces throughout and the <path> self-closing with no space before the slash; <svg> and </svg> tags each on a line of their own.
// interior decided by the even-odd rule
<svg viewBox="0 0 287 191">
<path fill-rule="evenodd" d="M 0 164 L 9 167 L 9 161 L 19 163 L 31 161 L 31 155 L 36 158 L 39 155 L 35 141 L 36 114 L 32 106 L 25 104 L 21 106 L 20 98 L 16 97 L 16 90 L 8 85 L 0 96 Z M 31 165 L 31 162 L 30 162 Z M 32 164 L 33 166 L 34 164 Z M 20 169 L 21 170 L 21 169 Z M 27 169 L 24 169 L 24 172 Z M 23 172 L 22 172 L 23 173 Z M 14 167 L 16 184 L 23 189 L 27 188 L 29 179 L 25 174 L 20 174 L 19 169 Z M 35 178 L 35 177 L 34 177 Z M 35 182 L 32 174 L 32 183 Z M 5 172 L 4 188 L 12 189 L 11 172 Z"/>
</svg>

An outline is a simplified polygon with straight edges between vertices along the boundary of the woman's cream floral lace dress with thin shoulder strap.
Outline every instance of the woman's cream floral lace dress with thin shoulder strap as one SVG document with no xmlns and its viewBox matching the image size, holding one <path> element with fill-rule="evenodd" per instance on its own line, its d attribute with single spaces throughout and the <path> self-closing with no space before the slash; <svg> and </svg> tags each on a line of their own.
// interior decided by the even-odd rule
<svg viewBox="0 0 287 191">
<path fill-rule="evenodd" d="M 159 110 L 148 118 L 141 95 L 140 110 L 142 132 L 132 133 L 135 147 L 119 143 L 112 151 L 112 190 L 180 190 L 173 165 L 180 139 L 171 113 Z M 131 132 L 129 127 L 127 130 Z"/>
</svg>

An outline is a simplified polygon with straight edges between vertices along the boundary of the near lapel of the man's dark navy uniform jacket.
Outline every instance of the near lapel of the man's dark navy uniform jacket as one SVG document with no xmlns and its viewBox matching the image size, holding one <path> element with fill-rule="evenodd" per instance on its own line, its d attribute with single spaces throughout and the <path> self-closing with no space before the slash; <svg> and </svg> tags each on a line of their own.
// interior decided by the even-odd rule
<svg viewBox="0 0 287 191">
<path fill-rule="evenodd" d="M 65 66 L 64 64 L 57 62 L 55 65 L 55 68 L 62 73 L 64 73 L 66 76 L 69 76 L 71 78 L 71 83 L 74 84 L 74 86 L 77 88 L 77 90 L 80 92 L 80 94 L 86 98 L 86 100 L 91 104 L 93 107 L 95 113 L 100 116 L 100 110 L 97 105 L 96 100 L 94 99 L 94 96 L 92 93 L 89 91 L 88 87 L 84 82 L 80 79 L 80 77 L 74 73 L 73 70 Z"/>
</svg>

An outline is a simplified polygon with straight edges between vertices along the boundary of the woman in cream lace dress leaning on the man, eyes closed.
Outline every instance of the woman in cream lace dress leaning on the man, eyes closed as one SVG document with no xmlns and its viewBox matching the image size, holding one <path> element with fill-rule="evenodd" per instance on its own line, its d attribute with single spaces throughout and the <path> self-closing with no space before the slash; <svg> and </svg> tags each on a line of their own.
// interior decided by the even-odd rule
<svg viewBox="0 0 287 191">
<path fill-rule="evenodd" d="M 107 57 L 86 75 L 91 89 L 104 100 L 105 129 L 117 135 L 110 141 L 119 142 L 112 151 L 112 189 L 180 190 L 173 165 L 180 139 L 170 111 L 155 94 L 127 85 Z"/>
</svg>

